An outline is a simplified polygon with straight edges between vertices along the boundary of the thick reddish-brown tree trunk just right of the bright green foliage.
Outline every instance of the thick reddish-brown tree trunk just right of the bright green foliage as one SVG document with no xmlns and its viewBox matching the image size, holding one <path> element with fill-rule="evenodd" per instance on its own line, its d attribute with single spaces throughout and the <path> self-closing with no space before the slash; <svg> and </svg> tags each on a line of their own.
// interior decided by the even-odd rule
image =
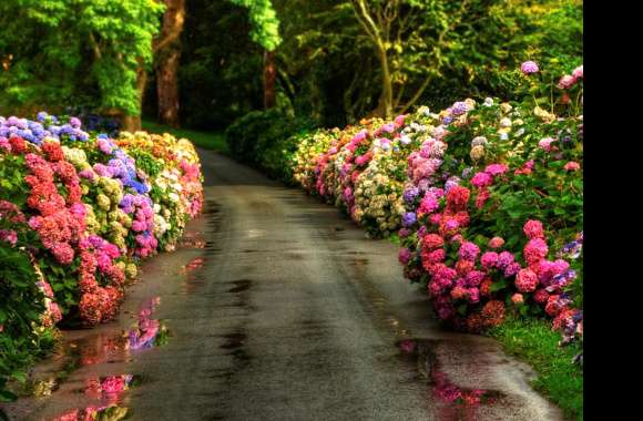
<svg viewBox="0 0 643 421">
<path fill-rule="evenodd" d="M 185 0 L 164 0 L 167 7 L 163 16 L 161 37 L 156 41 L 156 93 L 159 95 L 159 121 L 178 127 L 178 62 L 181 59 L 181 32 L 185 21 Z"/>
</svg>

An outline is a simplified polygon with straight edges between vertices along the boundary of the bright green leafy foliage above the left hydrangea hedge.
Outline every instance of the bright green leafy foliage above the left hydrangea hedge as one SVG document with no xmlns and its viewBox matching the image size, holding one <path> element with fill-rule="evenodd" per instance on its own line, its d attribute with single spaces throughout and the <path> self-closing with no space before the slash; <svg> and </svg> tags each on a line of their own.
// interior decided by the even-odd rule
<svg viewBox="0 0 643 421">
<path fill-rule="evenodd" d="M 152 62 L 162 2 L 153 0 L 0 2 L 0 105 L 60 104 L 140 114 L 136 71 Z"/>
</svg>

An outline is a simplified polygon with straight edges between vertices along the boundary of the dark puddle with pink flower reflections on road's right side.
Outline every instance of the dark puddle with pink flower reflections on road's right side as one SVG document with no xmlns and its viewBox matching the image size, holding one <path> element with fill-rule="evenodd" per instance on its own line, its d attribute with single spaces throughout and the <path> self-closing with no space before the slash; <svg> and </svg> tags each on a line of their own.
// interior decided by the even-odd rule
<svg viewBox="0 0 643 421">
<path fill-rule="evenodd" d="M 440 363 L 431 347 L 436 342 L 422 339 L 402 339 L 397 342 L 401 356 L 416 363 L 418 377 L 425 379 L 439 401 L 449 404 L 476 407 L 481 403 L 496 403 L 503 394 L 496 390 L 460 388 L 453 383 L 446 372 L 440 370 Z"/>
</svg>

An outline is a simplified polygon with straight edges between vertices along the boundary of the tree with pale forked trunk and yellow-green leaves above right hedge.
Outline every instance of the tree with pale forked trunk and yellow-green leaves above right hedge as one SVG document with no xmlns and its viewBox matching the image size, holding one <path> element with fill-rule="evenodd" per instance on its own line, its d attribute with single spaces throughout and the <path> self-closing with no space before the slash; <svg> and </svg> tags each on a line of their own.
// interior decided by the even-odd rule
<svg viewBox="0 0 643 421">
<path fill-rule="evenodd" d="M 490 69 L 524 60 L 534 10 L 561 7 L 550 0 L 533 7 L 513 0 L 349 2 L 379 60 L 381 92 L 375 113 L 389 117 L 416 104 L 431 84 L 443 90 L 451 79 L 466 88 L 490 73 L 507 79 Z"/>
</svg>

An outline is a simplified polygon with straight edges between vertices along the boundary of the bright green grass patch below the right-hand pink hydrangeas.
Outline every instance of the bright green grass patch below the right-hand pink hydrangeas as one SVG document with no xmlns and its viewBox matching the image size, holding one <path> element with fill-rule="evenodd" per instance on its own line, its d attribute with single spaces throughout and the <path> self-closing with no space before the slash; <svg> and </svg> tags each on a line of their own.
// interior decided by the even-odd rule
<svg viewBox="0 0 643 421">
<path fill-rule="evenodd" d="M 533 367 L 538 373 L 533 388 L 558 404 L 567 418 L 583 419 L 583 370 L 571 362 L 581 351 L 579 343 L 560 348 L 560 333 L 551 330 L 551 321 L 541 319 L 508 317 L 488 335 Z"/>
</svg>

